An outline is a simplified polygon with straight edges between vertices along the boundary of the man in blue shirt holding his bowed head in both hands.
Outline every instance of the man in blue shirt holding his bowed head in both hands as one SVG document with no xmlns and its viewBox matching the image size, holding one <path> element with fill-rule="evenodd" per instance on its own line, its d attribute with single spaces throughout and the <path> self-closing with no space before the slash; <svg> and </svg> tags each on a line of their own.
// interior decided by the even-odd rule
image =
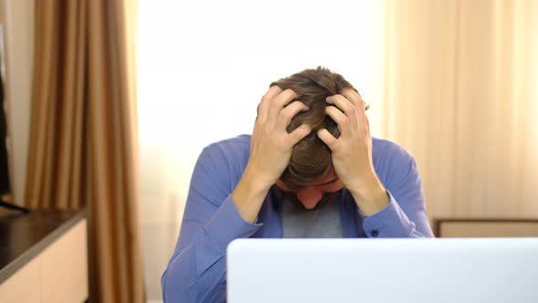
<svg viewBox="0 0 538 303">
<path fill-rule="evenodd" d="M 252 136 L 213 143 L 196 163 L 164 301 L 222 302 L 236 238 L 432 236 L 415 161 L 372 140 L 366 110 L 326 68 L 272 83 Z"/>
</svg>

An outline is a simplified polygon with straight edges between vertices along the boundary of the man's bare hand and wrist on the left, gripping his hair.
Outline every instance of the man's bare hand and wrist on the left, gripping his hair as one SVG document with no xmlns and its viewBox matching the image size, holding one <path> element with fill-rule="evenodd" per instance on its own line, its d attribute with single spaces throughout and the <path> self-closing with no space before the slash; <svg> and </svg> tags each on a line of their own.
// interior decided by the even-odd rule
<svg viewBox="0 0 538 303">
<path fill-rule="evenodd" d="M 290 133 L 286 131 L 296 114 L 308 110 L 304 103 L 292 102 L 296 98 L 292 89 L 274 86 L 267 90 L 259 105 L 249 161 L 232 193 L 233 202 L 245 221 L 254 222 L 269 188 L 285 171 L 293 147 L 312 131 L 305 124 Z"/>
</svg>

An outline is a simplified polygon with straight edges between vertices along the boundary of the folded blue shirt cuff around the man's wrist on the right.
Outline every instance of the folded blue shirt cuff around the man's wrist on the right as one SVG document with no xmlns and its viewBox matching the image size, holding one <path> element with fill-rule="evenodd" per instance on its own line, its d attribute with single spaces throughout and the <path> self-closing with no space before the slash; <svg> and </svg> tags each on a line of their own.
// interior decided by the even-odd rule
<svg viewBox="0 0 538 303">
<path fill-rule="evenodd" d="M 409 237 L 415 224 L 409 221 L 392 193 L 387 193 L 390 201 L 377 214 L 366 216 L 359 211 L 363 219 L 362 227 L 368 237 Z"/>
</svg>

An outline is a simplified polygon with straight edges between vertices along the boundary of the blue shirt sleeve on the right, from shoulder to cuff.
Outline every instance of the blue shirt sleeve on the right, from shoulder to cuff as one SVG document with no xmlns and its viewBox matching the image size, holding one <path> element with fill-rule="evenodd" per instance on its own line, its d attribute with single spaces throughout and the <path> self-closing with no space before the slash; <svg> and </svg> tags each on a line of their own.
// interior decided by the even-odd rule
<svg viewBox="0 0 538 303">
<path fill-rule="evenodd" d="M 402 150 L 403 151 L 403 150 Z M 389 203 L 377 214 L 362 217 L 368 237 L 433 237 L 415 160 L 399 151 L 386 180 Z"/>
</svg>

